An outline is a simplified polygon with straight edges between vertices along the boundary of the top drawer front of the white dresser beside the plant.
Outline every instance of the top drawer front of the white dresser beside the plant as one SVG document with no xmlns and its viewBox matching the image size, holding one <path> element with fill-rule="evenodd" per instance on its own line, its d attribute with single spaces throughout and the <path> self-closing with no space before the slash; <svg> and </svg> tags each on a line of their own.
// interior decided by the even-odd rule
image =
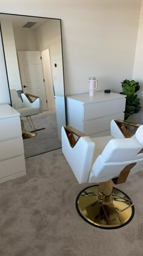
<svg viewBox="0 0 143 256">
<path fill-rule="evenodd" d="M 121 113 L 125 110 L 125 98 L 111 99 L 91 104 L 84 104 L 83 120 Z"/>
</svg>

